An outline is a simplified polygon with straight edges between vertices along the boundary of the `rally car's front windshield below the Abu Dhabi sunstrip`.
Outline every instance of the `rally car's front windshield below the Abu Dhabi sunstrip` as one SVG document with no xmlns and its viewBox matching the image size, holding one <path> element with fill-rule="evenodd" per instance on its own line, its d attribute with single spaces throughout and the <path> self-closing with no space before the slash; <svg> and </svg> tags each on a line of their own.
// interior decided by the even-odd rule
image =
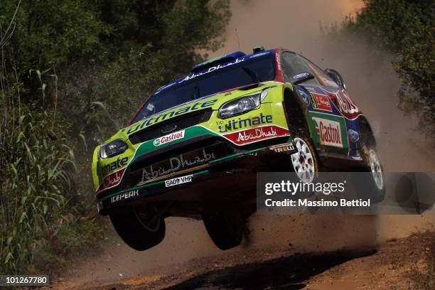
<svg viewBox="0 0 435 290">
<path fill-rule="evenodd" d="M 272 55 L 243 60 L 202 75 L 189 75 L 183 82 L 178 82 L 152 95 L 136 114 L 133 122 L 215 92 L 274 80 L 274 78 L 275 60 Z"/>
</svg>

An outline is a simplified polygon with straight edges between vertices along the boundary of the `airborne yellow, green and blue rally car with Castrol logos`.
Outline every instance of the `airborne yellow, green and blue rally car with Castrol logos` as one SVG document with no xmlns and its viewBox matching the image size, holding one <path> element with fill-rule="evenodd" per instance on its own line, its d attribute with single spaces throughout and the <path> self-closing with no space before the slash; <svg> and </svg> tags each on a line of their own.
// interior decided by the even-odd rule
<svg viewBox="0 0 435 290">
<path fill-rule="evenodd" d="M 93 156 L 98 211 L 137 250 L 169 216 L 202 218 L 220 249 L 240 245 L 256 209 L 257 171 L 372 172 L 385 181 L 367 119 L 343 78 L 284 49 L 254 48 L 195 65 L 160 87 Z"/>
</svg>

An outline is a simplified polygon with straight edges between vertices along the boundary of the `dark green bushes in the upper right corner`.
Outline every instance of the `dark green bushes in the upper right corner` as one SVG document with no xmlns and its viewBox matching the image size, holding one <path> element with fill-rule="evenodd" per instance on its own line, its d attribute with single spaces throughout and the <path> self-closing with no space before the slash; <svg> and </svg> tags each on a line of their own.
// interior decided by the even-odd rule
<svg viewBox="0 0 435 290">
<path fill-rule="evenodd" d="M 346 18 L 335 33 L 365 38 L 395 55 L 402 80 L 398 95 L 405 112 L 417 112 L 420 128 L 435 138 L 435 1 L 364 0 L 355 18 Z"/>
</svg>

